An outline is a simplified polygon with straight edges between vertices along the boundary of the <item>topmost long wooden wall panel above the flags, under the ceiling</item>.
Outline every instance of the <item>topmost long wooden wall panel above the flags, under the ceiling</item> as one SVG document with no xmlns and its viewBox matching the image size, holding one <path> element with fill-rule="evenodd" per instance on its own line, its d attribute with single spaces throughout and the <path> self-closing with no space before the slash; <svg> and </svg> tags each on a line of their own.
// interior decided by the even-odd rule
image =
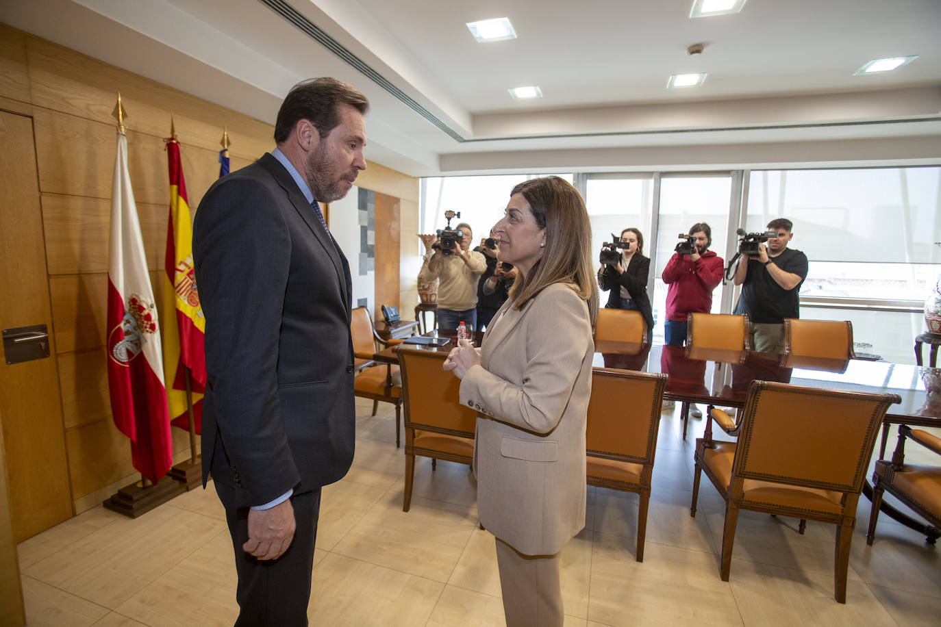
<svg viewBox="0 0 941 627">
<path fill-rule="evenodd" d="M 207 149 L 218 146 L 224 125 L 229 127 L 232 155 L 257 158 L 274 144 L 270 124 L 179 89 L 31 36 L 26 39 L 26 51 L 37 106 L 111 124 L 120 91 L 131 132 L 167 137 L 172 114 L 181 139 Z"/>
</svg>

